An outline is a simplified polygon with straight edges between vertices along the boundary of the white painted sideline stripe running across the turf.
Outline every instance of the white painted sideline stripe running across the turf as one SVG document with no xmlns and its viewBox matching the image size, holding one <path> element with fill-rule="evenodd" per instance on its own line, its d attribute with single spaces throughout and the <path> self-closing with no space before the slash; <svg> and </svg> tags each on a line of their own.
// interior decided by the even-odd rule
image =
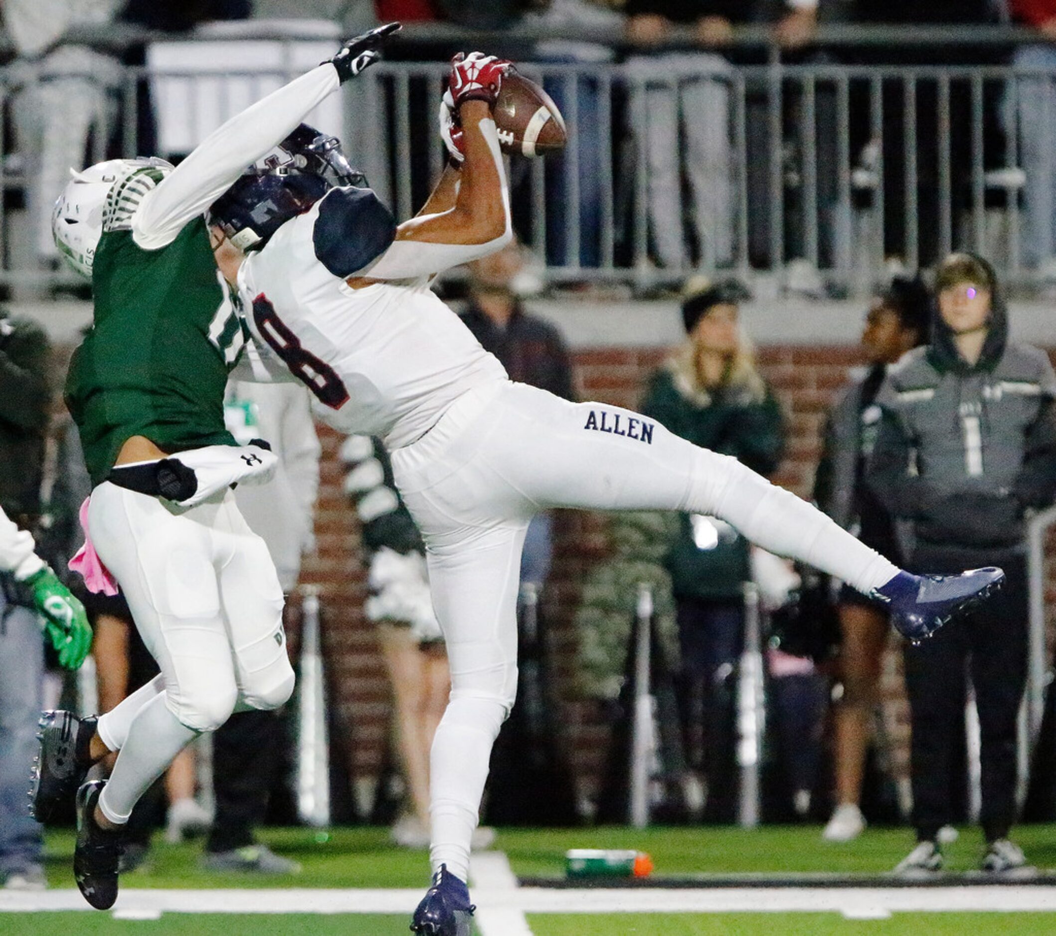
<svg viewBox="0 0 1056 936">
<path fill-rule="evenodd" d="M 483 857 L 483 856 L 482 856 Z M 549 890 L 509 886 L 495 855 L 482 866 L 474 856 L 472 896 L 482 930 L 492 936 L 529 936 L 526 913 L 841 913 L 883 917 L 891 913 L 999 911 L 1056 913 L 1056 886 L 954 887 L 709 887 Z M 508 867 L 508 865 L 507 865 Z M 492 877 L 494 875 L 494 877 Z M 485 881 L 491 881 L 488 884 Z M 121 892 L 115 913 L 381 913 L 410 914 L 419 890 L 209 890 Z M 91 908 L 75 890 L 0 890 L 0 913 Z M 143 918 L 143 917 L 140 917 Z M 520 929 L 518 929 L 520 928 Z M 0 924 L 2 929 L 2 924 Z"/>
</svg>

